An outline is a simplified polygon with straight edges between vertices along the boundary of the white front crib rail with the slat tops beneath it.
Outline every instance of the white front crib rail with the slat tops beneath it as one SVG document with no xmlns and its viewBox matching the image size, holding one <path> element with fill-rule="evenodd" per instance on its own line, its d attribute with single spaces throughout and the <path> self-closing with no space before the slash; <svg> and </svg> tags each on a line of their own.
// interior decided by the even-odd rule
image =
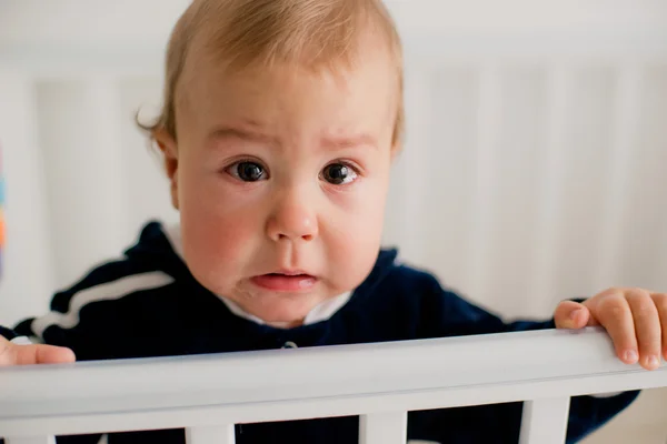
<svg viewBox="0 0 667 444">
<path fill-rule="evenodd" d="M 364 444 L 405 443 L 407 412 L 528 401 L 522 443 L 565 441 L 569 397 L 667 386 L 618 361 L 599 329 L 0 370 L 0 436 L 187 430 L 360 415 Z M 36 437 L 37 436 L 37 437 Z"/>
</svg>

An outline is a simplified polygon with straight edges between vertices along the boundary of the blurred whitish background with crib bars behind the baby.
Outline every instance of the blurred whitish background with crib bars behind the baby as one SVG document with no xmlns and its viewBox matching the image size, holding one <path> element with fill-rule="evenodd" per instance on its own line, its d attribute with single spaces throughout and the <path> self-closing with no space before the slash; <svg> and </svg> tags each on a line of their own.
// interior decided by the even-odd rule
<svg viewBox="0 0 667 444">
<path fill-rule="evenodd" d="M 135 124 L 188 0 L 0 0 L 0 324 L 178 220 Z M 385 240 L 508 320 L 667 290 L 667 1 L 388 0 L 408 132 Z M 590 440 L 667 438 L 650 391 Z"/>
</svg>

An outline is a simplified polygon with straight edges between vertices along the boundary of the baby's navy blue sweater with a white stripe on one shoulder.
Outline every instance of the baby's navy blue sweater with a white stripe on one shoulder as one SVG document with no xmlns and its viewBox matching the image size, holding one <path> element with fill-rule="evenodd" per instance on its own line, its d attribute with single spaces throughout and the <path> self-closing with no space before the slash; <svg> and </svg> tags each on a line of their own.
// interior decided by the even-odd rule
<svg viewBox="0 0 667 444">
<path fill-rule="evenodd" d="M 79 361 L 90 361 L 270 350 L 287 342 L 308 347 L 555 326 L 552 320 L 505 323 L 444 290 L 432 275 L 397 264 L 396 255 L 396 251 L 380 251 L 368 279 L 330 319 L 281 330 L 231 313 L 193 279 L 162 226 L 152 222 L 121 260 L 94 269 L 71 289 L 56 294 L 49 315 L 26 320 L 4 334 L 39 336 L 46 343 L 72 349 Z M 73 296 L 83 292 L 91 295 L 87 302 L 82 306 L 72 303 L 77 301 Z M 568 443 L 599 427 L 636 396 L 637 392 L 627 392 L 608 398 L 573 398 Z M 449 444 L 514 444 L 518 442 L 521 406 L 510 403 L 411 412 L 408 436 Z M 58 443 L 96 443 L 98 438 L 59 437 Z M 237 426 L 239 444 L 345 444 L 357 440 L 358 417 Z M 173 430 L 109 436 L 109 444 L 147 442 L 181 444 L 185 433 Z"/>
</svg>

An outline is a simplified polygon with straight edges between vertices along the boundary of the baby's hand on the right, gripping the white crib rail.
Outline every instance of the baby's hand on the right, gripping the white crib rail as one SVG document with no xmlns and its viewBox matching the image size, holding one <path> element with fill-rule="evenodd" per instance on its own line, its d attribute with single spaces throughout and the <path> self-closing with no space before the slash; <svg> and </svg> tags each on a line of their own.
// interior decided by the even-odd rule
<svg viewBox="0 0 667 444">
<path fill-rule="evenodd" d="M 557 329 L 601 325 L 618 357 L 647 370 L 667 359 L 667 294 L 641 289 L 609 289 L 579 304 L 564 301 L 555 313 Z"/>
</svg>

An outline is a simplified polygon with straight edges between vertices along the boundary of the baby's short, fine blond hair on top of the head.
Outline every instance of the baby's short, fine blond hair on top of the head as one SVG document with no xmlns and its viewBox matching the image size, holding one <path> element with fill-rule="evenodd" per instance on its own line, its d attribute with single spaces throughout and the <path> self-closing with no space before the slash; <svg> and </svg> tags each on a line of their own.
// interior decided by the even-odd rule
<svg viewBox="0 0 667 444">
<path fill-rule="evenodd" d="M 276 62 L 334 69 L 351 63 L 369 26 L 382 34 L 396 62 L 399 103 L 392 144 L 399 147 L 405 125 L 402 50 L 381 0 L 193 0 L 169 40 L 162 110 L 152 124 L 139 125 L 177 139 L 177 89 L 195 40 L 236 69 Z"/>
</svg>

